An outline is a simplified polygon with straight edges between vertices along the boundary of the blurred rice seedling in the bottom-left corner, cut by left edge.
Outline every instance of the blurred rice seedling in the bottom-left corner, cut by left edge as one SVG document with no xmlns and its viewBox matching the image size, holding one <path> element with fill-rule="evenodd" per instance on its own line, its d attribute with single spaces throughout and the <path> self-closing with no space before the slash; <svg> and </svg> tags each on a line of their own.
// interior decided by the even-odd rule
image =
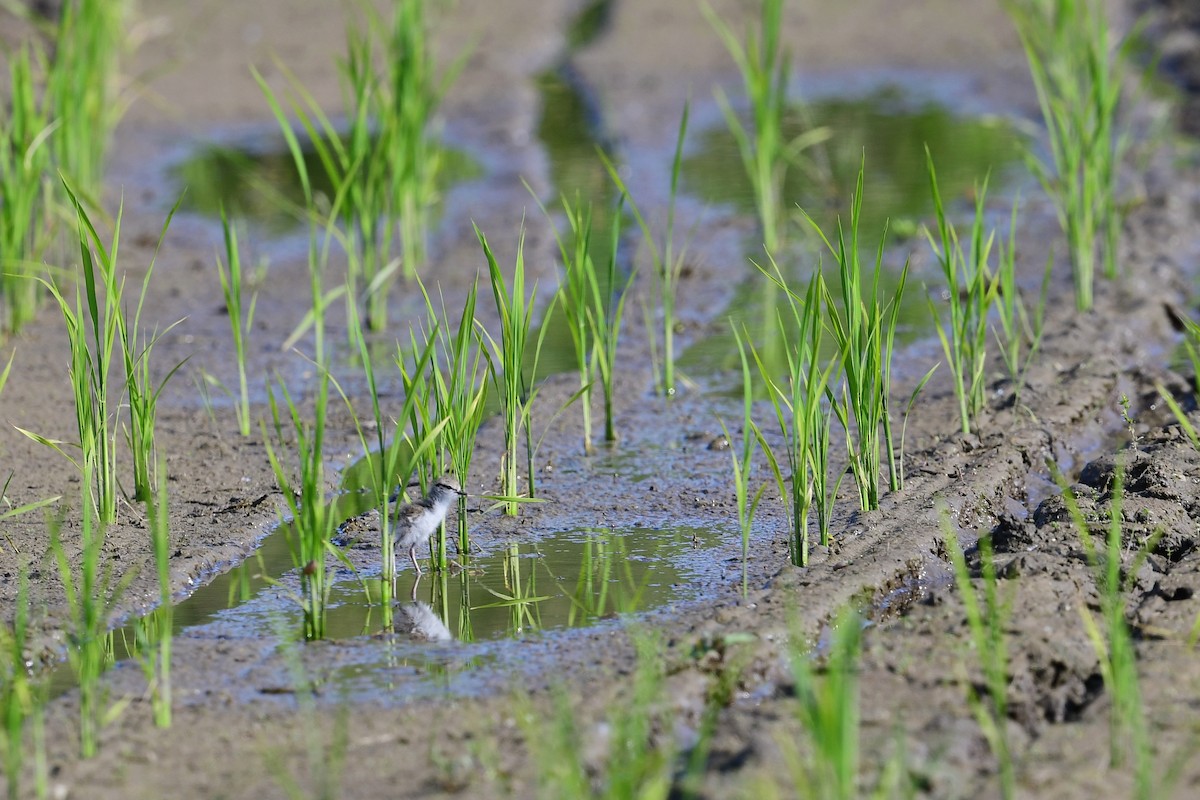
<svg viewBox="0 0 1200 800">
<path fill-rule="evenodd" d="M 8 800 L 19 800 L 25 763 L 25 730 L 32 732 L 36 766 L 44 766 L 43 717 L 46 692 L 29 674 L 25 648 L 29 645 L 29 572 L 22 566 L 17 577 L 17 600 L 12 621 L 0 622 L 0 759 L 4 763 Z M 38 781 L 44 775 L 38 769 Z M 46 796 L 38 792 L 38 796 Z"/>
</svg>

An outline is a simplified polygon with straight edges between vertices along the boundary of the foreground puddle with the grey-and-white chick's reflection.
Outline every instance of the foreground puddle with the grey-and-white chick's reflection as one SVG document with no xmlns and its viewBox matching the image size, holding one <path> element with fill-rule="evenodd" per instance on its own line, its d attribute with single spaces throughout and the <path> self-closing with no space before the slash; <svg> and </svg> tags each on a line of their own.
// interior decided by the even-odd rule
<svg viewBox="0 0 1200 800">
<path fill-rule="evenodd" d="M 584 627 L 694 601 L 718 579 L 715 551 L 728 540 L 721 531 L 686 527 L 576 528 L 476 555 L 469 570 L 418 577 L 403 569 L 406 563 L 397 576 L 401 600 L 390 633 L 384 631 L 379 606 L 364 591 L 366 587 L 371 597 L 379 596 L 374 536 L 365 534 L 352 546 L 374 560 L 370 569 L 358 576 L 346 569 L 334 575 L 324 642 L 352 651 L 338 658 L 335 678 L 370 680 L 374 686 L 390 685 L 398 676 L 395 670 L 456 674 L 492 660 L 487 646 L 466 648 L 468 643 Z M 244 564 L 175 606 L 175 634 L 270 642 L 281 628 L 300 631 L 296 589 L 280 528 Z M 114 662 L 133 656 L 136 626 L 132 621 L 114 631 Z M 73 685 L 65 664 L 50 675 L 52 694 Z"/>
</svg>

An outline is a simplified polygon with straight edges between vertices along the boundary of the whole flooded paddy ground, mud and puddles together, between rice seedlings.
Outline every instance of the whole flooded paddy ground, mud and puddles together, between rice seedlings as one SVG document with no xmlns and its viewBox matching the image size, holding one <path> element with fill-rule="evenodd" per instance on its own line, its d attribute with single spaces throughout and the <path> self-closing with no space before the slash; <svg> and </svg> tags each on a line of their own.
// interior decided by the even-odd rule
<svg viewBox="0 0 1200 800">
<path fill-rule="evenodd" d="M 792 313 L 786 294 L 751 263 L 768 263 L 763 233 L 720 98 L 740 119 L 749 110 L 733 60 L 701 7 L 431 4 L 437 72 L 461 72 L 431 125 L 445 163 L 415 267 L 421 284 L 403 265 L 384 282 L 386 325 L 361 347 L 344 295 L 328 302 L 323 363 L 336 391 L 323 414 L 316 488 L 336 536 L 317 567 L 316 558 L 296 561 L 301 523 L 293 517 L 306 511 L 289 505 L 312 428 L 288 427 L 281 389 L 311 425 L 320 345 L 311 327 L 299 326 L 313 308 L 313 240 L 302 216 L 305 181 L 264 86 L 284 97 L 294 77 L 344 133 L 338 60 L 347 20 L 360 17 L 316 0 L 138 4 L 133 30 L 143 41 L 121 66 L 133 77 L 134 98 L 113 134 L 92 218 L 108 241 L 124 204 L 127 290 L 140 287 L 156 259 L 142 319 L 161 332 L 151 372 L 162 380 L 182 365 L 162 390 L 154 434 L 168 509 L 173 720 L 155 724 L 138 657 L 149 630 L 138 620 L 154 619 L 158 607 L 151 548 L 158 521 L 133 499 L 125 435 L 116 433 L 122 491 L 98 557 L 112 585 L 121 584 L 103 612 L 112 663 L 98 686 L 112 712 L 101 714 L 96 754 L 79 756 L 86 700 L 66 658 L 78 634 L 53 541 L 62 543 L 67 569 L 78 570 L 92 523 L 80 511 L 80 471 L 20 432 L 80 438 L 62 314 L 44 305 L 0 349 L 0 367 L 12 356 L 0 381 L 0 515 L 60 498 L 0 517 L 0 608 L 10 609 L 10 621 L 18 606 L 31 609 L 18 661 L 44 687 L 44 729 L 38 735 L 30 723 L 22 733 L 28 756 L 18 796 L 36 795 L 38 772 L 50 796 L 102 799 L 876 790 L 1186 798 L 1200 790 L 1200 452 L 1163 399 L 1177 398 L 1181 414 L 1198 422 L 1178 318 L 1195 315 L 1200 164 L 1194 144 L 1172 128 L 1182 101 L 1144 91 L 1124 109 L 1135 137 L 1118 184 L 1120 277 L 1098 279 L 1094 306 L 1080 312 L 1055 207 L 1027 164 L 1027 152 L 1046 157 L 1045 132 L 1003 7 L 985 0 L 852 6 L 784 10 L 781 41 L 792 60 L 781 130 L 790 142 L 811 134 L 811 143 L 782 181 L 785 233 L 770 254 L 780 278 L 800 293 L 820 259 L 828 302 L 841 302 L 836 264 L 793 209 L 832 236 L 836 221 L 848 218 L 865 162 L 863 260 L 875 264 L 887 225 L 881 293 L 896 291 L 907 264 L 890 373 L 890 416 L 905 426 L 902 488 L 884 481 L 878 509 L 862 510 L 834 422 L 829 471 L 845 477 L 829 515 L 832 541 L 818 543 L 814 515 L 808 564 L 792 563 L 791 507 L 780 494 L 794 476 L 785 462 L 776 482 L 764 455 L 769 445 L 782 459 L 786 444 L 764 384 L 767 377 L 786 384 L 799 332 L 776 324 Z M 1144 11 L 1110 6 L 1118 31 Z M 713 10 L 739 36 L 757 24 L 757 4 Z M 1168 66 L 1186 65 L 1186 14 L 1170 4 L 1150 12 L 1145 47 L 1165 42 Z M 296 108 L 283 115 L 294 120 Z M 298 148 L 307 154 L 318 207 L 328 211 L 336 188 L 314 139 L 304 136 Z M 982 212 L 997 242 L 1008 241 L 1016 203 L 1014 259 L 1031 301 L 1052 261 L 1040 344 L 1020 380 L 1006 372 L 988 331 L 984 404 L 968 434 L 934 321 L 948 317 L 952 297 L 924 233 L 936 228 L 926 146 L 964 237 L 985 178 Z M 614 264 L 605 290 L 616 294 L 626 279 L 630 287 L 613 361 L 616 441 L 604 441 L 598 378 L 590 447 L 578 359 L 554 301 L 565 279 L 556 240 L 568 230 L 560 196 L 593 204 L 590 253 Z M 658 247 L 674 217 L 682 255 L 666 327 L 661 279 L 634 204 Z M 222 207 L 238 225 L 256 297 L 245 329 L 247 435 L 239 431 L 239 355 L 217 271 L 218 259 L 228 263 Z M 390 582 L 371 499 L 379 467 L 372 384 L 383 444 L 397 417 L 402 432 L 418 437 L 403 416 L 413 387 L 396 355 L 414 363 L 412 331 L 431 330 L 420 285 L 454 326 L 479 279 L 466 327 L 499 341 L 502 314 L 475 229 L 510 281 L 523 247 L 532 341 L 541 341 L 541 355 L 536 368 L 524 356 L 534 451 L 527 459 L 521 443 L 517 488 L 527 493 L 534 482 L 536 501 L 520 504 L 515 516 L 499 507 L 503 380 L 487 378 L 479 384 L 488 392 L 469 469 L 460 474 L 467 497 L 448 519 L 446 566 L 433 569 L 421 543 L 418 576 L 407 548 L 398 551 L 391 599 L 380 602 Z M 334 241 L 322 263 L 325 290 L 343 284 L 343 245 Z M 389 257 L 400 253 L 397 240 L 391 249 Z M 78 248 L 67 253 L 62 264 L 74 270 Z M 670 393 L 667 331 L 676 354 Z M 752 438 L 743 422 L 743 342 L 754 343 L 763 378 L 751 392 L 762 434 L 750 456 L 750 494 L 764 488 L 745 534 L 732 467 Z M 832 332 L 823 347 L 834 349 Z M 500 354 L 488 353 L 485 360 L 499 367 Z M 755 379 L 758 363 L 746 363 Z M 125 420 L 127 410 L 113 414 Z M 392 473 L 407 480 L 403 469 Z M 1060 482 L 1072 488 L 1074 506 Z M 965 552 L 958 576 L 947 530 Z M 469 536 L 466 547 L 455 547 L 458 531 Z M 1120 565 L 1115 578 L 1105 572 L 1110 564 Z M 300 601 L 317 569 L 328 575 L 328 613 L 319 636 L 305 640 L 311 628 Z M 1105 591 L 1112 587 L 1120 607 Z M 980 607 L 996 613 L 988 642 L 1003 643 L 1002 655 L 989 650 L 990 662 L 980 650 L 992 645 L 972 626 Z M 1127 638 L 1114 644 L 1104 632 L 1117 627 Z M 1115 657 L 1118 646 L 1127 661 Z M 1000 704 L 989 663 L 1001 664 Z M 847 676 L 850 693 L 829 699 Z M 857 750 L 830 744 L 835 722 L 822 728 L 805 717 L 814 698 L 846 712 Z M 1139 748 L 1142 741 L 1150 744 Z M 821 771 L 833 764 L 848 765 L 850 784 Z"/>
</svg>

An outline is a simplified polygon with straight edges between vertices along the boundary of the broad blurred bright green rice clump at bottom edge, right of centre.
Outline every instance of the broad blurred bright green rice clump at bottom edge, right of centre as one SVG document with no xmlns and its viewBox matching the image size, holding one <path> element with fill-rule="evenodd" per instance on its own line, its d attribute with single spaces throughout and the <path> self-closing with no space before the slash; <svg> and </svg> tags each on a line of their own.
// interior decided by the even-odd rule
<svg viewBox="0 0 1200 800">
<path fill-rule="evenodd" d="M 812 656 L 798 649 L 800 637 L 792 636 L 797 718 L 811 750 L 802 756 L 792 742 L 784 750 L 800 796 L 851 800 L 859 796 L 858 657 L 863 621 L 854 610 L 846 609 L 835 625 L 821 679 Z"/>
</svg>

